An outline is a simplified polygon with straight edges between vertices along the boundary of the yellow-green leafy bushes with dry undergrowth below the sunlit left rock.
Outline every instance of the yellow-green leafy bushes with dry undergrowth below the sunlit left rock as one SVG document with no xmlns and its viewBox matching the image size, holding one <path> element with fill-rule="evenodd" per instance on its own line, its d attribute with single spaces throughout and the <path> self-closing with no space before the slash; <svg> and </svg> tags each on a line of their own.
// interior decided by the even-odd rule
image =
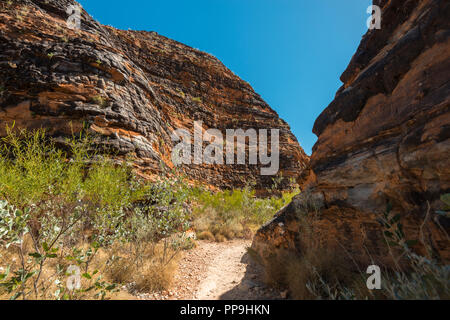
<svg viewBox="0 0 450 320">
<path fill-rule="evenodd" d="M 9 130 L 2 140 L 0 255 L 8 265 L 0 266 L 0 296 L 104 299 L 124 262 L 131 273 L 122 280 L 167 286 L 181 250 L 170 236 L 189 228 L 182 180 L 140 180 L 125 162 L 97 155 L 88 138 L 68 139 L 64 150 L 43 131 Z M 73 270 L 75 289 L 66 281 Z"/>
</svg>

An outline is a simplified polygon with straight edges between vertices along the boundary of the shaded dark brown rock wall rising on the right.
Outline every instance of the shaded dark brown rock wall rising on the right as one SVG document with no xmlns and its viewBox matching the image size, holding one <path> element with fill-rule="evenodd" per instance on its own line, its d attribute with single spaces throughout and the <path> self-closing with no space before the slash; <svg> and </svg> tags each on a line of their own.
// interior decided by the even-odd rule
<svg viewBox="0 0 450 320">
<path fill-rule="evenodd" d="M 317 237 L 361 261 L 366 248 L 381 259 L 386 251 L 376 217 L 390 203 L 406 237 L 418 239 L 424 223 L 422 233 L 448 261 L 441 231 L 450 224 L 435 210 L 450 191 L 450 3 L 374 4 L 382 8 L 382 27 L 363 37 L 343 86 L 313 129 L 318 142 L 306 186 L 322 207 Z M 264 226 L 254 246 L 298 249 L 305 201 L 297 197 Z"/>
</svg>

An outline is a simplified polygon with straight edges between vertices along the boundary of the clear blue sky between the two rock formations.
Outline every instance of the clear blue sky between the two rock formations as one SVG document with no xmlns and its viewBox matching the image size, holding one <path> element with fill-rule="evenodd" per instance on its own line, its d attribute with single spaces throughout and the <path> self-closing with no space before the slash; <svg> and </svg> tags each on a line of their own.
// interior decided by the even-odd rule
<svg viewBox="0 0 450 320">
<path fill-rule="evenodd" d="M 102 24 L 213 54 L 286 120 L 305 151 L 367 31 L 371 0 L 81 0 Z"/>
</svg>

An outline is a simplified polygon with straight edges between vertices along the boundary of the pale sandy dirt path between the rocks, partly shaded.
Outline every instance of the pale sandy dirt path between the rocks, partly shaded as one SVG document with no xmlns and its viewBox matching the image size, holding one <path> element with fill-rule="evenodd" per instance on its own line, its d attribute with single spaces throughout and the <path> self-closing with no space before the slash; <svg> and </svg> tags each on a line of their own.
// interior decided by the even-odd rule
<svg viewBox="0 0 450 320">
<path fill-rule="evenodd" d="M 262 282 L 262 270 L 248 257 L 250 240 L 197 241 L 180 261 L 170 299 L 267 300 L 281 295 Z"/>
</svg>

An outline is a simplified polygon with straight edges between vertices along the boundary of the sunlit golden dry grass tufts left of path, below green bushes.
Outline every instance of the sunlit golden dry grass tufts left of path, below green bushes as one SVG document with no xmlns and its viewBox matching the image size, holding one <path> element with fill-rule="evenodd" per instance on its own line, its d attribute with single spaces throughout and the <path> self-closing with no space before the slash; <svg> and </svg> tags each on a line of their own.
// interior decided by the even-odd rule
<svg viewBox="0 0 450 320">
<path fill-rule="evenodd" d="M 24 241 L 24 249 L 32 251 L 32 241 L 30 237 L 26 237 Z M 157 245 L 148 243 L 143 245 L 144 250 L 137 250 L 134 245 L 113 245 L 112 248 L 101 248 L 93 257 L 89 264 L 89 270 L 98 270 L 97 276 L 102 277 L 102 281 L 108 283 L 120 284 L 119 290 L 108 294 L 111 300 L 133 300 L 136 299 L 136 293 L 158 292 L 167 290 L 172 284 L 178 266 L 178 251 L 169 248 L 164 250 L 164 244 Z M 79 245 L 79 248 L 87 249 L 88 244 Z M 139 257 L 137 256 L 139 254 Z M 21 267 L 21 261 L 18 256 L 18 250 L 14 246 L 6 249 L 0 246 L 0 271 L 6 270 L 8 263 L 11 270 Z M 56 276 L 57 269 L 67 269 L 73 262 L 63 258 L 48 260 L 45 264 L 40 283 L 43 292 L 37 299 L 54 299 L 53 293 L 58 289 L 55 280 L 61 282 L 67 281 L 68 275 Z M 82 270 L 85 272 L 85 270 Z M 32 291 L 31 283 L 25 291 Z M 81 287 L 87 288 L 92 283 L 85 278 L 81 278 Z M 126 289 L 122 287 L 126 287 Z M 87 292 L 79 295 L 75 299 L 94 300 L 95 292 Z M 10 294 L 0 289 L 0 300 L 8 300 Z M 36 299 L 33 295 L 27 296 L 27 299 Z"/>
</svg>

